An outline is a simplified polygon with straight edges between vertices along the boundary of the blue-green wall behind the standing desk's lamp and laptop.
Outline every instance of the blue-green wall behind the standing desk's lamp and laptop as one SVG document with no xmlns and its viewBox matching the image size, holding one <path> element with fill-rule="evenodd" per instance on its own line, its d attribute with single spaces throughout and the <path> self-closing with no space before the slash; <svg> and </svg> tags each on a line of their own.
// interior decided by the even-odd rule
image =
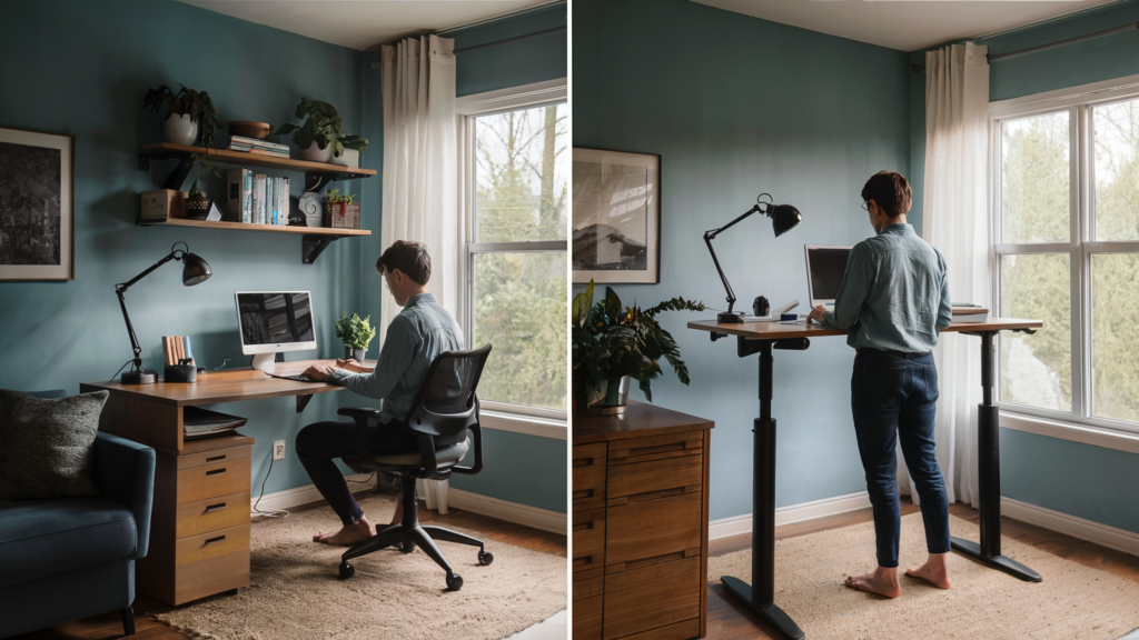
<svg viewBox="0 0 1139 640">
<path fill-rule="evenodd" d="M 909 166 L 906 54 L 683 0 L 575 0 L 573 11 L 574 147 L 661 155 L 661 284 L 614 287 L 622 300 L 724 307 L 702 235 L 768 191 L 803 223 L 776 239 L 770 221 L 748 219 L 716 239 L 716 253 L 739 306 L 762 294 L 805 311 L 803 245 L 870 236 L 862 184 Z M 653 387 L 657 404 L 715 421 L 716 519 L 752 511 L 757 356 L 685 328 L 708 317 L 663 318 L 691 385 L 666 367 Z M 866 490 L 846 391 L 853 356 L 842 338 L 776 352 L 778 506 Z"/>
</svg>

